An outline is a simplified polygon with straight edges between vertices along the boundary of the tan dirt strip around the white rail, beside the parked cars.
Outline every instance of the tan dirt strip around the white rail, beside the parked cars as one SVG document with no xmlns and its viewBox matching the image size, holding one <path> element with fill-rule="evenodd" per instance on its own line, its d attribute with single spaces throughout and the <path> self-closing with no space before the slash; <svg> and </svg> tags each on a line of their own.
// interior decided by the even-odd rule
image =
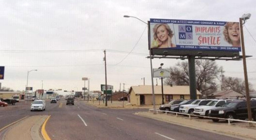
<svg viewBox="0 0 256 140">
<path fill-rule="evenodd" d="M 254 139 L 256 140 L 256 129 L 255 127 L 249 128 L 248 123 L 236 122 L 232 125 L 228 125 L 225 121 L 218 123 L 212 122 L 209 119 L 199 119 L 198 117 L 188 117 L 173 114 L 153 114 L 152 112 L 139 112 L 135 115 L 140 115 L 143 117 L 149 117 L 152 119 L 165 121 L 172 124 L 182 125 L 194 129 L 199 129 L 208 132 L 214 132 L 219 134 L 224 134 L 232 137 L 242 138 L 242 139 Z"/>
</svg>

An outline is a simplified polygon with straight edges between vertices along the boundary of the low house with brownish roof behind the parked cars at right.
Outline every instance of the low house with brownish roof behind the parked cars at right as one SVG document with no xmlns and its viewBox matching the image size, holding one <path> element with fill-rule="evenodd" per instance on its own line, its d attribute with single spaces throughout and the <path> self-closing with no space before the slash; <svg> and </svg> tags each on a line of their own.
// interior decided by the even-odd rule
<svg viewBox="0 0 256 140">
<path fill-rule="evenodd" d="M 217 91 L 208 95 L 209 99 L 239 99 L 241 97 L 244 97 L 244 95 L 233 90 Z"/>
</svg>

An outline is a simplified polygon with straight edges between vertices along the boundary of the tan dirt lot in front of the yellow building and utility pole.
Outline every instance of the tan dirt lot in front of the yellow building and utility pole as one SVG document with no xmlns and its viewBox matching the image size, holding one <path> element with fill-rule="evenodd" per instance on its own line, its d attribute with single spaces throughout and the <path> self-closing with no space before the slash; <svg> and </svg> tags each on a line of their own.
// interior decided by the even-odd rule
<svg viewBox="0 0 256 140">
<path fill-rule="evenodd" d="M 103 101 L 100 101 L 100 104 L 99 104 L 99 101 L 84 101 L 85 103 L 89 104 L 89 105 L 92 105 L 92 106 L 95 106 L 95 107 L 98 107 L 98 108 L 124 108 L 124 109 L 134 109 L 134 108 L 153 108 L 153 105 L 140 105 L 140 106 L 137 106 L 137 105 L 132 105 L 130 104 L 128 101 L 124 101 L 124 106 L 123 106 L 123 101 L 108 101 L 108 106 L 105 106 L 105 102 L 103 103 Z M 156 105 L 156 108 L 159 108 L 160 105 Z"/>
</svg>

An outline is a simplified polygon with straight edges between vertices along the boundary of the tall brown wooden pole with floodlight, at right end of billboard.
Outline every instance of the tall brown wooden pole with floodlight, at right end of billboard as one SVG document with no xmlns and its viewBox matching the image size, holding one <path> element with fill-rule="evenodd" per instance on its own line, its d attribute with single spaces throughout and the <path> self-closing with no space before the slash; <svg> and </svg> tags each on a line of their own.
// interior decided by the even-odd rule
<svg viewBox="0 0 256 140">
<path fill-rule="evenodd" d="M 240 24 L 240 32 L 241 32 L 241 47 L 243 54 L 243 65 L 244 65 L 244 76 L 245 76 L 245 89 L 246 89 L 246 103 L 247 103 L 247 112 L 249 121 L 252 120 L 251 116 L 251 104 L 250 104 L 250 94 L 249 94 L 249 84 L 248 84 L 248 76 L 247 76 L 247 68 L 246 68 L 246 55 L 245 55 L 245 43 L 244 43 L 244 33 L 243 33 L 243 18 L 239 18 Z M 249 123 L 249 126 L 252 126 L 252 123 Z"/>
</svg>

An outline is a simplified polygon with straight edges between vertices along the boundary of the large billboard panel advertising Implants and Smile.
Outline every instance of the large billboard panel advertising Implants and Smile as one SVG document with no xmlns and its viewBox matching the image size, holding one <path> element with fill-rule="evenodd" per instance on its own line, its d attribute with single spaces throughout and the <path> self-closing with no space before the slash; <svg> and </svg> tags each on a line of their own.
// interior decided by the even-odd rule
<svg viewBox="0 0 256 140">
<path fill-rule="evenodd" d="M 150 49 L 240 52 L 238 22 L 150 19 Z"/>
</svg>

